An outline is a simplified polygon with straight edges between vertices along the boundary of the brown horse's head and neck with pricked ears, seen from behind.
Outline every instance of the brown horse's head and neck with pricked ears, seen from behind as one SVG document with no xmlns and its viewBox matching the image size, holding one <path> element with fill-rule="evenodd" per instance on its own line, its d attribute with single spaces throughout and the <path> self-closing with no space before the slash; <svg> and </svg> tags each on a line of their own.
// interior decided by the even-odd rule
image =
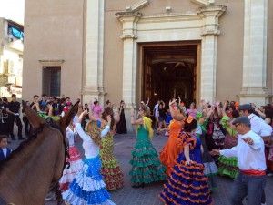
<svg viewBox="0 0 273 205">
<path fill-rule="evenodd" d="M 23 102 L 35 135 L 21 143 L 0 166 L 1 205 L 44 204 L 45 195 L 62 176 L 67 153 L 64 133 L 77 106 L 78 102 L 53 128 Z"/>
</svg>

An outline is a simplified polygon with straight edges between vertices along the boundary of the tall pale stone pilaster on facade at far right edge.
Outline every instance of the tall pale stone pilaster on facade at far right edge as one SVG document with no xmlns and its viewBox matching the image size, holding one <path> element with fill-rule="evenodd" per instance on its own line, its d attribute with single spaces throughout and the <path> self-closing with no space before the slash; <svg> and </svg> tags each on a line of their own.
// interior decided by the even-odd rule
<svg viewBox="0 0 273 205">
<path fill-rule="evenodd" d="M 243 83 L 240 103 L 268 103 L 268 0 L 245 0 Z"/>
</svg>

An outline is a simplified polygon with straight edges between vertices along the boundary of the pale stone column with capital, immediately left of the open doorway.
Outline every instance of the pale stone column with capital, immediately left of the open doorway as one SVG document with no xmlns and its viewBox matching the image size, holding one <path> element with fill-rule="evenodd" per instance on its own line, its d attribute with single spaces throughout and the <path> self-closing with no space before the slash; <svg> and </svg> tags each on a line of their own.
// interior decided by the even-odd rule
<svg viewBox="0 0 273 205">
<path fill-rule="evenodd" d="M 136 107 L 136 26 L 141 14 L 137 12 L 120 12 L 116 13 L 116 17 L 123 25 L 122 35 L 120 36 L 123 39 L 124 52 L 122 97 L 126 102 L 127 129 L 132 132 L 130 109 Z"/>
</svg>

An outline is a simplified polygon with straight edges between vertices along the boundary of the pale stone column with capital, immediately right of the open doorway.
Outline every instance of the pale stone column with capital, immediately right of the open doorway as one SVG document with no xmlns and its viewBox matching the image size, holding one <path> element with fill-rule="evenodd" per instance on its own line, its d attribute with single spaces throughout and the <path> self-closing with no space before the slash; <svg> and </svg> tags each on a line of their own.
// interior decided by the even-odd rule
<svg viewBox="0 0 273 205">
<path fill-rule="evenodd" d="M 227 10 L 227 6 L 207 6 L 200 8 L 202 18 L 202 55 L 200 72 L 200 99 L 210 102 L 216 97 L 217 72 L 217 36 L 220 34 L 218 18 Z"/>
</svg>

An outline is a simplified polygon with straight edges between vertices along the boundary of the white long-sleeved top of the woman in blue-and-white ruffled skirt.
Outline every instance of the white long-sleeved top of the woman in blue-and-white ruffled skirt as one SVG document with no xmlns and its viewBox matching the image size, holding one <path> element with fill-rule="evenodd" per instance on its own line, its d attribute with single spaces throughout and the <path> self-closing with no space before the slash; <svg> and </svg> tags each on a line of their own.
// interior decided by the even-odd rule
<svg viewBox="0 0 273 205">
<path fill-rule="evenodd" d="M 85 149 L 86 159 L 95 158 L 99 154 L 99 147 L 94 140 L 86 134 L 80 123 L 76 123 L 75 129 L 77 134 L 83 139 L 83 148 Z M 106 126 L 106 128 L 101 131 L 101 138 L 105 137 L 109 130 L 110 127 Z"/>
</svg>

